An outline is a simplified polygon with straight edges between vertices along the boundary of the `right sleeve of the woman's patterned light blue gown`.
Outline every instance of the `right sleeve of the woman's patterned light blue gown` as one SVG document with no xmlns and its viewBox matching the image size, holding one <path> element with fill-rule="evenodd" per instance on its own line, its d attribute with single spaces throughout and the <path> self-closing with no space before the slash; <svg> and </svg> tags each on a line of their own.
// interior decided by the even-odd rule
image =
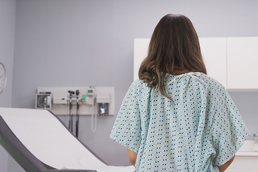
<svg viewBox="0 0 258 172">
<path fill-rule="evenodd" d="M 216 151 L 213 164 L 220 166 L 235 155 L 249 137 L 249 132 L 225 88 L 220 90 L 219 101 L 217 98 L 213 103 L 216 105 L 211 134 Z"/>
</svg>

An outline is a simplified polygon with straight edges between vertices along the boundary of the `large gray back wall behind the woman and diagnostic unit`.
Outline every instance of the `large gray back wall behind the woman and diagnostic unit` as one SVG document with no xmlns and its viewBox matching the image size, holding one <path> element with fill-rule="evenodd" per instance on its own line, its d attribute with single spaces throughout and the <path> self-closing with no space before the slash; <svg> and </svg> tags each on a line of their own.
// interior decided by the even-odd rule
<svg viewBox="0 0 258 172">
<path fill-rule="evenodd" d="M 258 36 L 258 1 L 45 0 L 16 2 L 12 107 L 34 108 L 37 87 L 116 89 L 117 113 L 133 81 L 134 38 L 150 37 L 168 13 L 188 16 L 200 37 Z M 230 92 L 250 133 L 258 93 Z M 109 139 L 116 116 L 80 118 L 79 138 L 108 164 L 129 165 L 126 149 Z M 68 123 L 67 116 L 61 118 Z M 1 156 L 0 156 L 1 157 Z M 9 169 L 14 170 L 15 165 Z M 11 171 L 11 170 L 10 170 Z"/>
</svg>

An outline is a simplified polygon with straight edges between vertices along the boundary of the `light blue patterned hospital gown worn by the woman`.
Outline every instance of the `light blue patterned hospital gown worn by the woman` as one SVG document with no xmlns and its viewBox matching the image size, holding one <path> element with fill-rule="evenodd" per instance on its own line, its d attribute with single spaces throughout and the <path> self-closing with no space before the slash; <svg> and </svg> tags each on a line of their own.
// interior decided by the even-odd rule
<svg viewBox="0 0 258 172">
<path fill-rule="evenodd" d="M 165 84 L 173 101 L 134 81 L 110 138 L 138 153 L 135 171 L 219 171 L 249 136 L 228 92 L 200 72 Z"/>
</svg>

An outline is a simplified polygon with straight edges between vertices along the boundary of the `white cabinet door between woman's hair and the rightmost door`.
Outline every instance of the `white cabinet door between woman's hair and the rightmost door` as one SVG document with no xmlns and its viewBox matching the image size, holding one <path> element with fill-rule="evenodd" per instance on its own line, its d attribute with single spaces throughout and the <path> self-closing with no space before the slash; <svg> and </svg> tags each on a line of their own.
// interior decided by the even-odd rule
<svg viewBox="0 0 258 172">
<path fill-rule="evenodd" d="M 217 79 L 227 88 L 227 38 L 201 37 L 199 42 L 207 75 Z"/>
</svg>

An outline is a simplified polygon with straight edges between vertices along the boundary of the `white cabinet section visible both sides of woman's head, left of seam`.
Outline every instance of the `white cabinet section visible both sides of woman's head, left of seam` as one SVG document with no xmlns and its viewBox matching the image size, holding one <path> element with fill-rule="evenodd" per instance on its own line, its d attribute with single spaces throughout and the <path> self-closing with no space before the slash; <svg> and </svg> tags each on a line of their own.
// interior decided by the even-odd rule
<svg viewBox="0 0 258 172">
<path fill-rule="evenodd" d="M 134 40 L 134 80 L 138 78 L 138 71 L 143 59 L 147 56 L 150 38 L 135 38 Z M 227 84 L 226 38 L 200 38 L 201 52 L 207 68 L 207 74 Z"/>
</svg>

